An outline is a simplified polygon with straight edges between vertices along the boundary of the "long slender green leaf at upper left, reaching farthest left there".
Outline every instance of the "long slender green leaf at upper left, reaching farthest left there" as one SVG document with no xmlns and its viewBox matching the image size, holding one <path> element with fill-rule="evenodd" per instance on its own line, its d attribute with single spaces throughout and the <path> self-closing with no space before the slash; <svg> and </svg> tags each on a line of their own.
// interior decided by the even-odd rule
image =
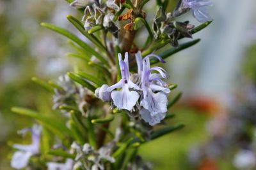
<svg viewBox="0 0 256 170">
<path fill-rule="evenodd" d="M 66 29 L 63 29 L 61 27 L 57 27 L 56 25 L 52 25 L 49 23 L 41 23 L 43 27 L 47 27 L 48 29 L 51 29 L 52 31 L 56 31 L 63 36 L 66 36 L 67 38 L 71 39 L 72 41 L 76 42 L 77 45 L 81 46 L 86 50 L 88 53 L 91 53 L 92 55 L 95 55 L 97 59 L 99 59 L 102 63 L 108 65 L 108 61 L 104 59 L 99 53 L 95 52 L 95 50 L 90 46 L 84 43 L 81 39 L 79 39 L 75 34 L 72 34 L 71 32 L 67 31 Z"/>
</svg>

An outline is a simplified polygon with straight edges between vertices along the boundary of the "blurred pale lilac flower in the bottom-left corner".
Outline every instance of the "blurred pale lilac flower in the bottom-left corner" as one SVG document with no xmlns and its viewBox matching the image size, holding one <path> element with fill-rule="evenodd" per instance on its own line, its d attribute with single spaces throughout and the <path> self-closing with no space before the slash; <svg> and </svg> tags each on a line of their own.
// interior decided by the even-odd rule
<svg viewBox="0 0 256 170">
<path fill-rule="evenodd" d="M 30 131 L 32 133 L 32 143 L 31 145 L 13 145 L 13 148 L 18 149 L 19 151 L 13 154 L 11 160 L 11 166 L 15 169 L 22 169 L 28 165 L 28 161 L 32 155 L 35 155 L 40 152 L 40 134 L 42 127 L 34 125 L 32 129 L 23 129 L 20 131 L 21 134 L 26 134 Z"/>
</svg>

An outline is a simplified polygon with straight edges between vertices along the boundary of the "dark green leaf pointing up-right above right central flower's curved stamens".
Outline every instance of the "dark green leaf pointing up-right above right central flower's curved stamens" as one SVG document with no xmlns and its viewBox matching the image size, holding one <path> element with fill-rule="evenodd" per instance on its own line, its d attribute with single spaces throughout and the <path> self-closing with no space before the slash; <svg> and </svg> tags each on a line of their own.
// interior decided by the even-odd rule
<svg viewBox="0 0 256 170">
<path fill-rule="evenodd" d="M 186 43 L 180 44 L 177 48 L 171 47 L 169 50 L 166 50 L 165 52 L 160 53 L 159 56 L 162 57 L 163 59 L 166 59 L 167 57 L 170 57 L 174 53 L 180 52 L 181 50 L 184 50 L 186 48 L 189 48 L 190 46 L 195 45 L 200 40 L 201 39 L 194 39 L 192 41 L 188 41 Z M 151 64 L 156 64 L 157 62 L 159 62 L 159 60 L 157 60 L 157 59 L 150 60 Z"/>
</svg>

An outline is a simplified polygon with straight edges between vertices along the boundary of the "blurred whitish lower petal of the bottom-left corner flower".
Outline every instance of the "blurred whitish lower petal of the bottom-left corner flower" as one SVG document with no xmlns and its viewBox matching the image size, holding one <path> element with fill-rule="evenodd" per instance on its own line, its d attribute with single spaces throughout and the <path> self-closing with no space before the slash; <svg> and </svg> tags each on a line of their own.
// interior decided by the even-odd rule
<svg viewBox="0 0 256 170">
<path fill-rule="evenodd" d="M 29 158 L 32 153 L 17 151 L 13 154 L 11 166 L 15 169 L 22 169 L 28 165 Z"/>
</svg>

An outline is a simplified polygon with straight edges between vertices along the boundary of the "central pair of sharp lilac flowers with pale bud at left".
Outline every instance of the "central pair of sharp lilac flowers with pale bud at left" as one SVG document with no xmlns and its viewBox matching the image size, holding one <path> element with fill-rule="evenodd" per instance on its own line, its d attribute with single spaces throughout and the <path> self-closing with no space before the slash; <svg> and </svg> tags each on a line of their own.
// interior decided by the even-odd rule
<svg viewBox="0 0 256 170">
<path fill-rule="evenodd" d="M 142 59 L 140 51 L 136 53 L 138 73 L 135 76 L 138 76 L 137 80 L 139 81 L 134 83 L 129 71 L 128 53 L 125 53 L 124 60 L 119 53 L 121 80 L 110 87 L 102 85 L 95 94 L 102 101 L 112 100 L 119 110 L 136 111 L 134 109 L 136 106 L 141 118 L 148 124 L 155 125 L 161 122 L 166 115 L 167 94 L 170 93 L 170 89 L 164 82 L 168 78 L 168 74 L 161 67 L 150 67 L 150 57 L 156 57 L 159 61 L 164 62 L 158 55 L 150 54 Z"/>
</svg>

